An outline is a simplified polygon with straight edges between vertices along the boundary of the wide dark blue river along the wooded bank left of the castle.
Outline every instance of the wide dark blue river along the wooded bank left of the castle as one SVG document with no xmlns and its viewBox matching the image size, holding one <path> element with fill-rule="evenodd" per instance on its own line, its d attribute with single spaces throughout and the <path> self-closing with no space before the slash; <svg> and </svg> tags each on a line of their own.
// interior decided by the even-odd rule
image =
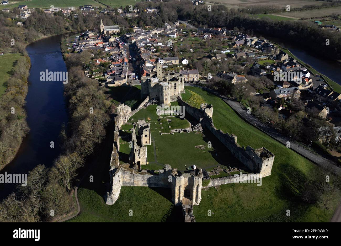
<svg viewBox="0 0 341 246">
<path fill-rule="evenodd" d="M 39 164 L 50 167 L 60 154 L 58 135 L 62 124 L 67 124 L 68 115 L 63 97 L 62 81 L 40 81 L 40 72 L 66 72 L 61 55 L 61 39 L 72 34 L 63 34 L 34 42 L 27 46 L 31 59 L 26 97 L 27 122 L 30 132 L 20 149 L 0 173 L 25 174 Z M 54 148 L 50 148 L 50 142 Z M 0 200 L 14 190 L 13 184 L 0 184 Z"/>
</svg>

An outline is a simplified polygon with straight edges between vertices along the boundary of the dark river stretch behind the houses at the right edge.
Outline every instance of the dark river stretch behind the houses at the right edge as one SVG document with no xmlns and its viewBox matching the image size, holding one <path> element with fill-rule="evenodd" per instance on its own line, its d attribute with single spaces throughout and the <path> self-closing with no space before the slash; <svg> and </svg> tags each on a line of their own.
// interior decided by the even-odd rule
<svg viewBox="0 0 341 246">
<path fill-rule="evenodd" d="M 257 34 L 259 37 L 260 35 Z M 298 59 L 302 60 L 305 63 L 308 63 L 318 72 L 326 75 L 333 81 L 337 82 L 341 85 L 341 62 L 335 60 L 328 60 L 317 55 L 314 55 L 313 51 L 307 51 L 304 47 L 300 45 L 295 45 L 295 43 L 287 42 L 285 40 L 273 38 L 271 36 L 263 35 L 270 42 L 275 42 L 281 45 L 282 47 L 287 48 L 293 53 Z"/>
</svg>

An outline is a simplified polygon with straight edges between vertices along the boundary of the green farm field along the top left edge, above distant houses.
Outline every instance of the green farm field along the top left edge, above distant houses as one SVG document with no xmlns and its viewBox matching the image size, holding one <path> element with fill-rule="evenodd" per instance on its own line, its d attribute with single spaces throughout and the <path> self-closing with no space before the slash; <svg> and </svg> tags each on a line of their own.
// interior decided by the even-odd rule
<svg viewBox="0 0 341 246">
<path fill-rule="evenodd" d="M 1 9 L 9 7 L 17 7 L 18 5 L 27 5 L 29 8 L 49 8 L 51 5 L 55 7 L 79 7 L 90 4 L 95 7 L 104 7 L 104 5 L 93 0 L 31 0 L 31 1 L 10 1 L 10 4 L 0 5 Z"/>
</svg>

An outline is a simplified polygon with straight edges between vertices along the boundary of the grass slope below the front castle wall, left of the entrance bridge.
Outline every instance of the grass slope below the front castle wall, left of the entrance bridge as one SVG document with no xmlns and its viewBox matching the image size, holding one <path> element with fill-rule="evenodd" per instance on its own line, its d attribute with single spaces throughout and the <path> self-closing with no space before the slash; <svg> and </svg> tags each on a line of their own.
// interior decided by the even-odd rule
<svg viewBox="0 0 341 246">
<path fill-rule="evenodd" d="M 170 201 L 170 189 L 122 186 L 120 198 L 106 205 L 101 196 L 90 188 L 77 193 L 81 214 L 68 222 L 181 222 L 179 206 Z M 132 211 L 132 216 L 129 214 Z M 170 211 L 170 216 L 167 216 Z"/>
</svg>

